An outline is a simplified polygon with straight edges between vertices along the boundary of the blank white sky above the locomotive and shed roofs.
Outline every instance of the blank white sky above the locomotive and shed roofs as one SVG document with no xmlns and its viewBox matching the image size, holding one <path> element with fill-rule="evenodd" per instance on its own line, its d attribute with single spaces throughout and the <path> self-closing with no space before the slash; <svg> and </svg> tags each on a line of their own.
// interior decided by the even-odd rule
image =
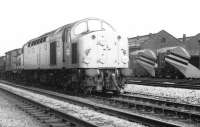
<svg viewBox="0 0 200 127">
<path fill-rule="evenodd" d="M 0 56 L 87 17 L 104 19 L 127 37 L 200 33 L 199 0 L 0 0 Z"/>
</svg>

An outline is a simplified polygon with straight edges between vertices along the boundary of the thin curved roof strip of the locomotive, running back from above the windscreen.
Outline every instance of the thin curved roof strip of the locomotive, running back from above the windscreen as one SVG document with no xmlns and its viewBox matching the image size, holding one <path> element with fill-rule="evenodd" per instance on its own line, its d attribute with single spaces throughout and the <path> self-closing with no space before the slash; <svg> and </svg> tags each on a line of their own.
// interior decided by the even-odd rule
<svg viewBox="0 0 200 127">
<path fill-rule="evenodd" d="M 50 32 L 47 32 L 47 33 L 45 33 L 45 34 L 43 34 L 43 35 L 41 35 L 39 37 L 33 38 L 33 39 L 29 40 L 27 43 L 25 43 L 24 45 L 28 44 L 30 41 L 36 40 L 37 38 L 40 38 L 40 37 L 48 36 L 49 34 L 55 33 L 56 31 L 59 31 L 61 29 L 64 29 L 64 28 L 71 29 L 75 24 L 77 24 L 79 22 L 82 22 L 82 21 L 87 21 L 87 20 L 100 20 L 100 21 L 104 21 L 104 20 L 99 19 L 99 18 L 85 18 L 85 19 L 82 19 L 82 20 L 78 20 L 78 21 L 75 21 L 73 23 L 69 23 L 69 24 L 66 24 L 64 26 L 61 26 L 61 27 L 59 27 L 59 28 L 57 28 L 55 30 L 52 30 Z M 106 21 L 104 21 L 104 22 L 106 22 Z"/>
</svg>

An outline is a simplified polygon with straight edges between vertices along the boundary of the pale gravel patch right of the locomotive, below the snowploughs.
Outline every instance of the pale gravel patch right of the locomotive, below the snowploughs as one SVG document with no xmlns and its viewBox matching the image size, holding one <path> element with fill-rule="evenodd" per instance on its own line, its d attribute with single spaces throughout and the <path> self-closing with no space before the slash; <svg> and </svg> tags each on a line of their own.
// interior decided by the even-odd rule
<svg viewBox="0 0 200 127">
<path fill-rule="evenodd" d="M 165 82 L 170 84 L 170 82 Z M 174 84 L 173 84 L 174 85 Z M 186 88 L 175 88 L 174 86 L 162 86 L 162 84 L 155 86 L 148 85 L 137 85 L 137 82 L 134 84 L 126 84 L 124 91 L 132 94 L 143 94 L 146 96 L 152 96 L 156 98 L 168 99 L 178 103 L 187 103 L 200 105 L 200 90 L 189 87 L 190 84 L 187 84 Z"/>
</svg>

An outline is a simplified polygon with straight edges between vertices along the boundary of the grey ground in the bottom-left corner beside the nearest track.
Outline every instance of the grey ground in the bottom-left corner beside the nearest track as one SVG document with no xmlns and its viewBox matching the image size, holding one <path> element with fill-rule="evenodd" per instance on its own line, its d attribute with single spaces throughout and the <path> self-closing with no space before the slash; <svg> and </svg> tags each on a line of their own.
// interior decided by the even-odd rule
<svg viewBox="0 0 200 127">
<path fill-rule="evenodd" d="M 0 90 L 0 127 L 41 127 L 37 120 L 17 108 L 17 103 Z"/>
</svg>

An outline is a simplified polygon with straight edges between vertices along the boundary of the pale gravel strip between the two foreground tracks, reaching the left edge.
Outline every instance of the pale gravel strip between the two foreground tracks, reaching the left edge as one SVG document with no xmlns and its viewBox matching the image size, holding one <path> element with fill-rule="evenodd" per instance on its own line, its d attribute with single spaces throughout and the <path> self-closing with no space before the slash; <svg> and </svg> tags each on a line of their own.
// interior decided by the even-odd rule
<svg viewBox="0 0 200 127">
<path fill-rule="evenodd" d="M 64 114 L 71 115 L 77 119 L 88 122 L 93 127 L 144 127 L 141 124 L 130 122 L 124 119 L 120 119 L 111 115 L 106 115 L 100 112 L 96 112 L 87 107 L 74 105 L 65 101 L 50 98 L 38 93 L 22 90 L 5 84 L 0 84 L 1 89 L 10 91 L 16 95 L 23 96 L 33 100 L 34 102 L 43 104 L 51 109 L 57 110 Z M 31 109 L 32 110 L 32 109 Z M 79 122 L 78 122 L 79 123 Z M 82 125 L 81 125 L 82 126 Z M 57 126 L 51 126 L 57 127 Z M 64 126 L 63 126 L 64 127 Z M 70 126 L 71 127 L 71 126 Z M 86 125 L 86 127 L 89 127 Z"/>
</svg>

